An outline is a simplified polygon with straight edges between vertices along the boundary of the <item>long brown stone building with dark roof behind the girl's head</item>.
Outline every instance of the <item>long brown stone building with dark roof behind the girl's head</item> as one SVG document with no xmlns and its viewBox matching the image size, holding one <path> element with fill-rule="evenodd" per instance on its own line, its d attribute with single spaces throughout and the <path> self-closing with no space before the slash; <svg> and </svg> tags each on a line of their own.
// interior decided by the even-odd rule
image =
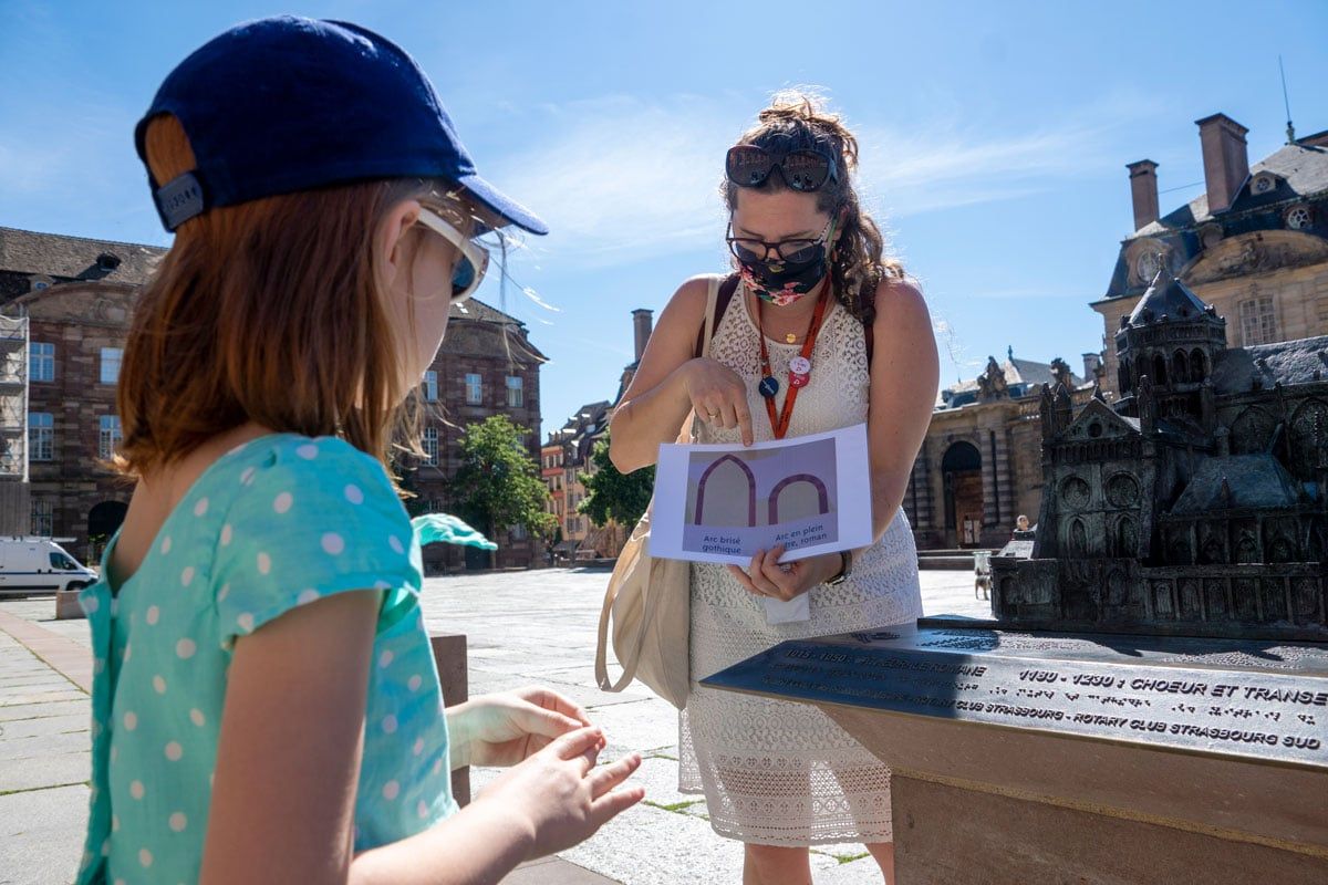
<svg viewBox="0 0 1328 885">
<path fill-rule="evenodd" d="M 131 492 L 104 462 L 121 439 L 116 382 L 130 317 L 139 287 L 165 252 L 0 228 L 0 308 L 28 322 L 28 406 L 0 413 L 0 438 L 15 437 L 20 419 L 27 431 L 29 512 L 21 531 L 72 537 L 70 552 L 92 561 L 124 520 Z M 465 423 L 507 414 L 527 429 L 535 456 L 542 362 L 513 317 L 474 300 L 452 309 L 444 348 L 420 390 L 425 462 L 437 463 L 413 474 L 420 499 L 413 507 L 448 508 L 446 479 L 458 463 Z M 3 381 L 0 387 L 5 393 Z M 538 561 L 537 545 L 519 529 L 505 529 L 494 540 L 499 567 Z M 465 556 L 441 544 L 425 551 L 430 571 L 463 567 Z M 485 564 L 487 557 L 471 555 L 471 565 Z"/>
</svg>

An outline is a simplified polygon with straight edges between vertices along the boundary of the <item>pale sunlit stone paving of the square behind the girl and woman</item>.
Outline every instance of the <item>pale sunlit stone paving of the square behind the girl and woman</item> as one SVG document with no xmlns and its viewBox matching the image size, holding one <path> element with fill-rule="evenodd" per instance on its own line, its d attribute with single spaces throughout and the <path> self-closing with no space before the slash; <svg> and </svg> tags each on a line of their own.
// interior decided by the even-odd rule
<svg viewBox="0 0 1328 885">
<path fill-rule="evenodd" d="M 595 686 L 595 626 L 607 579 L 606 571 L 547 569 L 425 582 L 429 629 L 467 636 L 471 695 L 547 685 L 604 727 L 606 759 L 631 750 L 645 756 L 635 776 L 647 788 L 644 803 L 590 841 L 507 881 L 741 882 L 741 845 L 714 835 L 704 801 L 677 792 L 675 710 L 640 683 L 622 694 Z M 927 614 L 989 612 L 973 598 L 968 572 L 927 571 L 922 582 Z M 53 616 L 50 597 L 0 601 L 0 885 L 69 881 L 81 849 L 89 707 L 78 685 L 84 674 L 69 661 L 88 647 L 88 625 Z M 495 774 L 471 770 L 473 789 Z M 814 849 L 813 876 L 817 885 L 882 881 L 861 845 Z"/>
</svg>

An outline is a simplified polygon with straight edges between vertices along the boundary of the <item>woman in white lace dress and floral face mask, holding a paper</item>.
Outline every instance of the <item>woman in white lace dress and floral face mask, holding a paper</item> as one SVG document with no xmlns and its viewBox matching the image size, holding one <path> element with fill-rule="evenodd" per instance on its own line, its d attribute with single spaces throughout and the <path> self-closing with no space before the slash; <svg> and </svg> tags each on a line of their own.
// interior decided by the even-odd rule
<svg viewBox="0 0 1328 885">
<path fill-rule="evenodd" d="M 701 442 L 750 444 L 866 422 L 875 541 L 781 565 L 692 565 L 692 674 L 777 642 L 902 624 L 922 613 L 899 508 L 936 398 L 931 320 L 862 210 L 858 145 L 805 96 L 777 97 L 726 158 L 728 241 L 738 279 L 697 358 L 708 281 L 688 280 L 651 337 L 612 419 L 614 463 L 651 464 L 689 411 Z M 722 303 L 722 299 L 721 299 Z M 780 601 L 809 596 L 788 621 Z M 769 614 L 768 614 L 769 612 Z M 810 878 L 810 845 L 862 841 L 894 878 L 890 772 L 815 707 L 692 686 L 681 789 L 746 844 L 744 882 Z"/>
</svg>

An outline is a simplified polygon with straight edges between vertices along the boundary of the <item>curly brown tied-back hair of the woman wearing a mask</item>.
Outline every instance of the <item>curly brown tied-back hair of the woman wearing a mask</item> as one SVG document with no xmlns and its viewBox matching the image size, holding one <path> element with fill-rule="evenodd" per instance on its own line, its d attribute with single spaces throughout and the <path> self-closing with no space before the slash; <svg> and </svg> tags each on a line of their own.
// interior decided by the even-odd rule
<svg viewBox="0 0 1328 885">
<path fill-rule="evenodd" d="M 757 114 L 757 125 L 742 134 L 738 145 L 788 150 L 817 149 L 838 158 L 838 180 L 827 180 L 818 190 L 817 208 L 841 212 L 841 235 L 830 255 L 830 277 L 834 295 L 853 316 L 870 325 L 876 316 L 876 285 L 884 279 L 904 279 L 904 268 L 886 256 L 880 228 L 863 211 L 853 175 L 858 169 L 858 139 L 838 114 L 829 113 L 819 97 L 803 92 L 777 93 L 770 106 Z M 782 175 L 770 175 L 757 187 L 773 192 L 788 188 Z M 737 207 L 738 186 L 724 180 L 724 203 L 729 212 Z"/>
</svg>

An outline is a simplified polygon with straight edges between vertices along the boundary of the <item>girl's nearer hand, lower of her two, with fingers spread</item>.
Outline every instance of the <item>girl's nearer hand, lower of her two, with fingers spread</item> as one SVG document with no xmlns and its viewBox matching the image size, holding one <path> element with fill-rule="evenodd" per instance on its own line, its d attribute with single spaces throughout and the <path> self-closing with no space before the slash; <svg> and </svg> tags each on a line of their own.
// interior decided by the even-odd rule
<svg viewBox="0 0 1328 885">
<path fill-rule="evenodd" d="M 641 787 L 614 789 L 640 767 L 640 754 L 596 767 L 603 748 L 599 728 L 566 734 L 485 787 L 471 807 L 498 803 L 522 820 L 533 837 L 527 860 L 571 848 L 645 796 Z"/>
</svg>

